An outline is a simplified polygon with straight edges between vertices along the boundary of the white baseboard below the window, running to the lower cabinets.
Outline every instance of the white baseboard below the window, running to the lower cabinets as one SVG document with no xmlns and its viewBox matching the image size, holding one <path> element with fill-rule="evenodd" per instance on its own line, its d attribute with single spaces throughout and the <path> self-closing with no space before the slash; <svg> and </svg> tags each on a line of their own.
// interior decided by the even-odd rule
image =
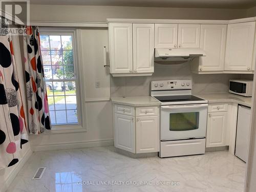
<svg viewBox="0 0 256 192">
<path fill-rule="evenodd" d="M 53 151 L 53 150 L 69 150 L 72 148 L 88 148 L 96 146 L 111 146 L 114 145 L 113 139 L 105 140 L 92 140 L 92 141 L 80 141 L 80 142 L 62 142 L 62 143 L 50 143 L 47 145 L 33 146 L 33 152 L 40 151 Z"/>
</svg>

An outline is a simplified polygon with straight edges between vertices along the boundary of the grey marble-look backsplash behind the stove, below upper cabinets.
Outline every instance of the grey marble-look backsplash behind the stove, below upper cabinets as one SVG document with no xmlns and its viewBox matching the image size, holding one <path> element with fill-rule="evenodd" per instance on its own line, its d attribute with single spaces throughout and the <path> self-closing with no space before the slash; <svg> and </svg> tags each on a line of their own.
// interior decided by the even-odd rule
<svg viewBox="0 0 256 192">
<path fill-rule="evenodd" d="M 147 96 L 150 95 L 151 81 L 168 79 L 191 79 L 194 94 L 228 92 L 229 79 L 252 77 L 252 75 L 242 76 L 241 74 L 193 74 L 189 65 L 189 62 L 178 65 L 155 63 L 155 72 L 152 76 L 111 76 L 111 96 Z"/>
</svg>

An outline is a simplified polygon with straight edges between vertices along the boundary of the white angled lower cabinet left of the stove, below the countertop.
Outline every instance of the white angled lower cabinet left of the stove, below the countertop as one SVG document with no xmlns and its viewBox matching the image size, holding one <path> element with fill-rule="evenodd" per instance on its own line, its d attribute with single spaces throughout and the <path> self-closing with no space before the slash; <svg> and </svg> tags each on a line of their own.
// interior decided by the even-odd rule
<svg viewBox="0 0 256 192">
<path fill-rule="evenodd" d="M 136 113 L 125 115 L 130 109 Z M 136 107 L 115 104 L 115 147 L 131 153 L 159 152 L 159 106 Z"/>
</svg>

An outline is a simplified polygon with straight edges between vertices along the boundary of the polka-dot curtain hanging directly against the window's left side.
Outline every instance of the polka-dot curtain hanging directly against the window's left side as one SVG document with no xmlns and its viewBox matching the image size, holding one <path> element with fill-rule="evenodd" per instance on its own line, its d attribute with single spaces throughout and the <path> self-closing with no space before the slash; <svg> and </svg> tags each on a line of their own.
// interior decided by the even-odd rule
<svg viewBox="0 0 256 192">
<path fill-rule="evenodd" d="M 28 126 L 31 134 L 51 130 L 44 69 L 42 66 L 38 27 L 26 27 L 24 34 L 25 75 L 28 102 Z"/>
</svg>

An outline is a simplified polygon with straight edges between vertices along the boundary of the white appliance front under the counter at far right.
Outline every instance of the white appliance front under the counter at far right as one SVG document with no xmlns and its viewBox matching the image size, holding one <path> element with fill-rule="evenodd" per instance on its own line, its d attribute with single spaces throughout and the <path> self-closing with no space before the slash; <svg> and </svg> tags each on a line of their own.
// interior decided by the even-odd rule
<svg viewBox="0 0 256 192">
<path fill-rule="evenodd" d="M 250 132 L 251 109 L 246 106 L 238 107 L 237 140 L 235 155 L 247 162 L 248 140 Z"/>
</svg>

